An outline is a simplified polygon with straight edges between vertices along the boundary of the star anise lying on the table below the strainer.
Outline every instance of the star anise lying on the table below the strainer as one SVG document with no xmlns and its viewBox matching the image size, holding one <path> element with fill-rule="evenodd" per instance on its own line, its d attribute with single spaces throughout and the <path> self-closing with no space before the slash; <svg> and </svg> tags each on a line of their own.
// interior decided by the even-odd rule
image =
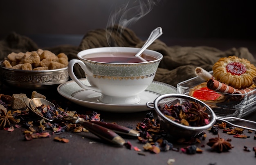
<svg viewBox="0 0 256 165">
<path fill-rule="evenodd" d="M 219 134 L 218 137 L 209 139 L 207 145 L 217 152 L 226 152 L 231 150 L 231 144 L 228 141 L 225 141 L 225 139 L 220 138 Z"/>
</svg>

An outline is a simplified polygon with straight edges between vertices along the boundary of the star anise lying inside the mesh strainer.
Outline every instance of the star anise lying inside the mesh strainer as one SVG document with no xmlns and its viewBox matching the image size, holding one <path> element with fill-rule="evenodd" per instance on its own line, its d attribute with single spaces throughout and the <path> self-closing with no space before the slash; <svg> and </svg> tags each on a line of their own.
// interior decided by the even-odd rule
<svg viewBox="0 0 256 165">
<path fill-rule="evenodd" d="M 209 119 L 209 116 L 206 112 L 206 107 L 201 107 L 199 103 L 192 102 L 192 106 L 188 110 L 190 114 L 192 114 L 191 118 L 189 119 L 190 122 L 195 122 L 197 126 L 205 125 L 205 119 Z"/>
</svg>

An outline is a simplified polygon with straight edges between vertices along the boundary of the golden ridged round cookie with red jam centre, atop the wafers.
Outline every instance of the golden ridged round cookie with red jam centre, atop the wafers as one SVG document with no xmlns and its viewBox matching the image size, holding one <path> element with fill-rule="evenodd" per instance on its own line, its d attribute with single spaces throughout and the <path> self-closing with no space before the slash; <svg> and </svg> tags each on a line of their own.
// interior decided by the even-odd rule
<svg viewBox="0 0 256 165">
<path fill-rule="evenodd" d="M 247 59 L 222 57 L 213 65 L 213 77 L 236 89 L 248 88 L 256 75 L 256 67 Z"/>
</svg>

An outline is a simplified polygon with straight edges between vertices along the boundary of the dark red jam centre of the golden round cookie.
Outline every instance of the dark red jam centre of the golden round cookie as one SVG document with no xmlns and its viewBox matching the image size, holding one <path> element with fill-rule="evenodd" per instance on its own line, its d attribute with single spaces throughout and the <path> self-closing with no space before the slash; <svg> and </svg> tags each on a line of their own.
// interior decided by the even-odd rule
<svg viewBox="0 0 256 165">
<path fill-rule="evenodd" d="M 246 72 L 246 67 L 240 62 L 231 62 L 226 66 L 227 72 L 232 75 L 243 75 Z"/>
</svg>

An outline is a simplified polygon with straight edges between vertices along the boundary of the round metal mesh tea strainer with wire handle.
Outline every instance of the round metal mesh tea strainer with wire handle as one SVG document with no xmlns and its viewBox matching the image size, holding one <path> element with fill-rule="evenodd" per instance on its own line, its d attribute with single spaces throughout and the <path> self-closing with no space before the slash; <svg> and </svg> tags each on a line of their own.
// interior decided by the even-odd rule
<svg viewBox="0 0 256 165">
<path fill-rule="evenodd" d="M 205 112 L 208 114 L 209 121 L 210 121 L 207 125 L 203 125 L 203 126 L 182 125 L 180 123 L 177 123 L 177 122 L 169 119 L 161 112 L 162 108 L 165 105 L 171 106 L 171 105 L 176 104 L 177 102 L 179 102 L 180 104 L 184 104 L 186 102 L 191 102 L 191 101 L 194 101 L 195 103 L 199 103 L 202 107 L 203 106 L 206 107 Z M 240 118 L 236 118 L 236 117 L 217 117 L 216 114 L 213 112 L 213 110 L 207 104 L 205 104 L 204 102 L 202 102 L 198 99 L 195 99 L 194 97 L 188 96 L 188 95 L 182 95 L 182 94 L 161 95 L 161 96 L 157 97 L 154 102 L 150 102 L 150 101 L 147 102 L 146 106 L 148 106 L 148 108 L 155 109 L 155 111 L 157 112 L 157 116 L 158 116 L 159 122 L 161 124 L 161 127 L 166 132 L 168 132 L 168 134 L 170 134 L 171 136 L 177 137 L 177 138 L 197 136 L 197 135 L 201 134 L 204 130 L 207 130 L 208 128 L 210 128 L 216 122 L 216 120 L 226 122 L 235 127 L 256 131 L 256 129 L 244 127 L 241 125 L 236 125 L 227 120 L 238 120 L 238 121 L 244 121 L 244 122 L 256 124 L 255 121 L 240 119 Z"/>
</svg>

